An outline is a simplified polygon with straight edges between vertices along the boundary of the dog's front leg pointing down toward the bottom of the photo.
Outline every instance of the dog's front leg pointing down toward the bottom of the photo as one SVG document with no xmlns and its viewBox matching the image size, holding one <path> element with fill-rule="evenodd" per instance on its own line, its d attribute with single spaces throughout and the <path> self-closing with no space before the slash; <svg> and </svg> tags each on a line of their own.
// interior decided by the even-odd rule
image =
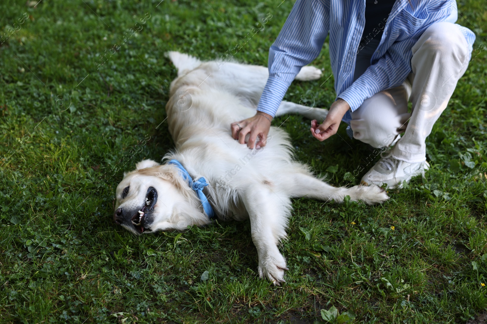
<svg viewBox="0 0 487 324">
<path fill-rule="evenodd" d="M 259 255 L 259 275 L 279 285 L 285 281 L 287 267 L 277 244 L 286 236 L 290 199 L 278 190 L 255 183 L 246 188 L 242 198 L 250 218 L 252 241 Z"/>
</svg>

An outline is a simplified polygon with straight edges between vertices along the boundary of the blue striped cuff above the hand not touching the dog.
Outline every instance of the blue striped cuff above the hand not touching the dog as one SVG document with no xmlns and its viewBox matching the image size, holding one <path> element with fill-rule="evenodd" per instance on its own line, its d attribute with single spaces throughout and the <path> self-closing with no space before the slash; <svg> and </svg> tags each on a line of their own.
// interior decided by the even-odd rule
<svg viewBox="0 0 487 324">
<path fill-rule="evenodd" d="M 340 93 L 341 98 L 350 105 L 352 111 L 356 111 L 365 99 L 368 99 L 381 91 L 380 86 L 367 74 L 362 74 L 355 82 Z"/>
</svg>

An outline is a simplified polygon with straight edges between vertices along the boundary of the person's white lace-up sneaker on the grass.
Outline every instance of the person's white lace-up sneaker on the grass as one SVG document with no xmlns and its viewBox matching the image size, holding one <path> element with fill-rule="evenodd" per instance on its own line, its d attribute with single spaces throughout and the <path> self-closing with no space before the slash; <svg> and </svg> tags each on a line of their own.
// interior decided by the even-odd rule
<svg viewBox="0 0 487 324">
<path fill-rule="evenodd" d="M 362 184 L 381 187 L 402 188 L 404 181 L 409 182 L 416 175 L 425 176 L 425 171 L 430 168 L 426 161 L 409 163 L 393 158 L 392 156 L 381 157 L 379 161 L 362 177 Z"/>
</svg>

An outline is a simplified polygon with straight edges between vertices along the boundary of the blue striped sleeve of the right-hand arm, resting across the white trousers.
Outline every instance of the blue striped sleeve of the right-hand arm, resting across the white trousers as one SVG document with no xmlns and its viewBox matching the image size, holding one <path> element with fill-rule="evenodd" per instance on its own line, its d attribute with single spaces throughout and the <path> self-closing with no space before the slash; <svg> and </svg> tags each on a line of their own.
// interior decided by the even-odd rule
<svg viewBox="0 0 487 324">
<path fill-rule="evenodd" d="M 386 53 L 356 79 L 337 98 L 345 100 L 352 111 L 377 92 L 401 85 L 412 71 L 412 47 L 419 40 L 423 32 L 434 22 L 452 21 L 456 18 L 455 1 L 445 1 L 441 10 L 429 10 L 430 17 L 423 27 L 410 38 L 393 43 Z"/>
</svg>

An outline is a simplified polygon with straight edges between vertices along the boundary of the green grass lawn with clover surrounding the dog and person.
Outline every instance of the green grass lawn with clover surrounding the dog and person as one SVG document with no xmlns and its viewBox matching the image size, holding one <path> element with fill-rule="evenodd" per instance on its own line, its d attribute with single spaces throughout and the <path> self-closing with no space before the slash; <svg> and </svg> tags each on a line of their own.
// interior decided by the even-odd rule
<svg viewBox="0 0 487 324">
<path fill-rule="evenodd" d="M 484 1 L 458 3 L 477 54 L 428 138 L 426 179 L 380 206 L 295 200 L 282 287 L 258 278 L 249 222 L 142 237 L 112 222 L 123 172 L 173 147 L 164 106 L 176 71 L 164 52 L 221 57 L 271 13 L 234 55 L 265 65 L 293 4 L 158 2 L 0 4 L 2 33 L 30 15 L 0 47 L 0 323 L 313 323 L 332 306 L 355 323 L 465 323 L 486 310 Z M 326 44 L 314 64 L 323 77 L 294 83 L 286 100 L 334 100 Z M 281 123 L 298 159 L 333 185 L 372 165 L 343 125 L 320 143 L 308 120 Z"/>
</svg>

